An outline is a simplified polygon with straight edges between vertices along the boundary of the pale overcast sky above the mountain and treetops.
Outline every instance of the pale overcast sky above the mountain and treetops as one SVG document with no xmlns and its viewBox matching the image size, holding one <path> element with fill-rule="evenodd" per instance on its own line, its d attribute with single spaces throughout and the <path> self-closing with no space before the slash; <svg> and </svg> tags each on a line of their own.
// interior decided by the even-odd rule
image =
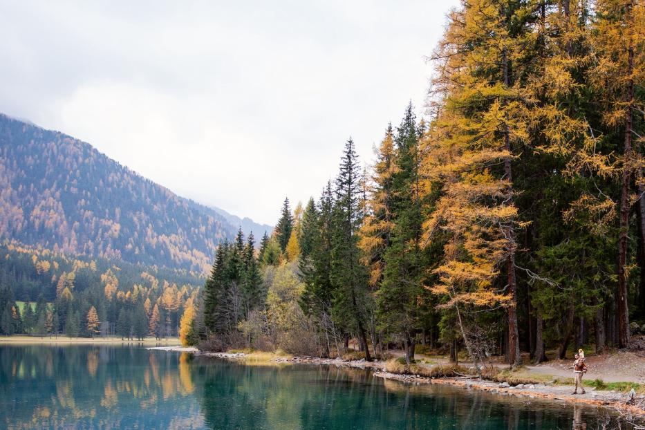
<svg viewBox="0 0 645 430">
<path fill-rule="evenodd" d="M 3 1 L 0 111 L 274 224 L 352 136 L 373 158 L 458 0 Z"/>
</svg>

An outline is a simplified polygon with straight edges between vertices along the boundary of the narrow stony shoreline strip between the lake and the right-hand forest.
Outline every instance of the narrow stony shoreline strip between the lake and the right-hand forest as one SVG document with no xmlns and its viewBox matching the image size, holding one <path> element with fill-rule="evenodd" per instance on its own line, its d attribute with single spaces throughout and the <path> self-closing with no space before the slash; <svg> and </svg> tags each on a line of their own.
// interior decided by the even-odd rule
<svg viewBox="0 0 645 430">
<path fill-rule="evenodd" d="M 245 362 L 247 360 L 253 359 L 253 355 L 247 353 L 209 353 L 200 351 L 197 348 L 182 346 L 156 347 L 147 349 L 193 353 L 194 355 L 198 356 L 228 359 L 236 362 Z M 516 386 L 510 386 L 506 383 L 500 384 L 498 382 L 490 380 L 483 380 L 480 377 L 476 376 L 435 378 L 422 375 L 391 373 L 385 370 L 385 362 L 366 362 L 364 359 L 345 360 L 341 358 L 330 359 L 320 357 L 272 357 L 267 361 L 275 364 L 312 364 L 346 368 L 359 368 L 372 371 L 372 375 L 374 377 L 380 377 L 384 380 L 395 380 L 404 384 L 451 385 L 463 389 L 476 389 L 501 395 L 514 395 L 530 399 L 539 398 L 541 400 L 553 400 L 558 402 L 568 402 L 572 404 L 586 404 L 588 406 L 613 409 L 614 411 L 617 411 L 617 413 L 626 416 L 626 418 L 628 419 L 645 419 L 645 397 L 642 395 L 637 395 L 635 398 L 636 403 L 641 404 L 641 406 L 637 406 L 626 404 L 627 393 L 601 391 L 588 388 L 586 389 L 586 394 L 573 395 L 571 391 L 574 387 L 570 385 L 518 384 Z"/>
</svg>

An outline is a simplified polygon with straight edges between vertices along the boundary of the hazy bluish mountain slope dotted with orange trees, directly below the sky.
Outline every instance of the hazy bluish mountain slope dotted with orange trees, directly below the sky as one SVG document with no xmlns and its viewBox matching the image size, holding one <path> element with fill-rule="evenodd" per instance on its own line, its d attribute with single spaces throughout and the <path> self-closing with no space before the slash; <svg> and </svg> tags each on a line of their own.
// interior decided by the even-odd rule
<svg viewBox="0 0 645 430">
<path fill-rule="evenodd" d="M 0 114 L 0 240 L 201 272 L 236 230 L 90 144 Z"/>
</svg>

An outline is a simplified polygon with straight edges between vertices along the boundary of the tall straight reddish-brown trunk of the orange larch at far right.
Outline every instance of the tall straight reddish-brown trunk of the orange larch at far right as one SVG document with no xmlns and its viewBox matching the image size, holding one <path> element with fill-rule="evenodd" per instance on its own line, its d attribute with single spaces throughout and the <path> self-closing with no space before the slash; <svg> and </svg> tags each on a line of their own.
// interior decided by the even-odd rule
<svg viewBox="0 0 645 430">
<path fill-rule="evenodd" d="M 628 47 L 627 75 L 631 76 L 634 67 L 634 48 Z M 629 230 L 629 183 L 630 162 L 632 158 L 632 104 L 634 98 L 634 81 L 628 79 L 625 109 L 625 144 L 623 153 L 623 172 L 620 190 L 620 235 L 618 238 L 618 346 L 629 346 L 629 314 L 627 306 L 627 233 Z"/>
</svg>

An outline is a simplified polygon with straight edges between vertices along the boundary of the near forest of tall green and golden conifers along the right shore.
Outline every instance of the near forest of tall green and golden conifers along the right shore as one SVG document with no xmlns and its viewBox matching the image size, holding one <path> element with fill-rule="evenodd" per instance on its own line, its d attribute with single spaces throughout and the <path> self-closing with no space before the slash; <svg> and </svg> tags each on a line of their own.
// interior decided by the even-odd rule
<svg viewBox="0 0 645 430">
<path fill-rule="evenodd" d="M 427 122 L 221 248 L 195 342 L 520 364 L 645 331 L 645 3 L 463 1 L 431 59 Z"/>
</svg>

